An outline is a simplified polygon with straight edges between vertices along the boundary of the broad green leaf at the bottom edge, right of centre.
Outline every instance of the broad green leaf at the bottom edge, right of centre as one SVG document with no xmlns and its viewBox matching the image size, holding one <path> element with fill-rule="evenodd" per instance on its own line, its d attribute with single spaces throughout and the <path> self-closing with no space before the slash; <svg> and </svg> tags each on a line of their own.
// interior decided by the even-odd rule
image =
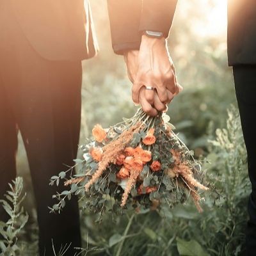
<svg viewBox="0 0 256 256">
<path fill-rule="evenodd" d="M 205 252 L 202 246 L 195 240 L 184 241 L 179 237 L 176 237 L 177 249 L 182 256 L 210 256 Z"/>
</svg>

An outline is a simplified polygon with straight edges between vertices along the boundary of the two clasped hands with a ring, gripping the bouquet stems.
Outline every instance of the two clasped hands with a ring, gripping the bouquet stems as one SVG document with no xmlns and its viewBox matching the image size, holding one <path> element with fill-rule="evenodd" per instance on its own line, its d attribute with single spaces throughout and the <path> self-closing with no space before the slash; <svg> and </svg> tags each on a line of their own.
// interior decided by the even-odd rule
<svg viewBox="0 0 256 256">
<path fill-rule="evenodd" d="M 157 115 L 157 111 L 166 110 L 166 105 L 182 87 L 177 83 L 165 38 L 143 35 L 140 51 L 124 52 L 124 60 L 133 83 L 134 104 L 141 104 L 141 108 L 152 116 Z M 147 90 L 146 86 L 155 90 Z"/>
</svg>

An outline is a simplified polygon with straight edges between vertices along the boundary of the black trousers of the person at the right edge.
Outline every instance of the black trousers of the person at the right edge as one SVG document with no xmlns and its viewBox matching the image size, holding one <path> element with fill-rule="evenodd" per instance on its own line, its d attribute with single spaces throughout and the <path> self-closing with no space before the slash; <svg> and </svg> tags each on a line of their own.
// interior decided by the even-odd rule
<svg viewBox="0 0 256 256">
<path fill-rule="evenodd" d="M 246 256 L 256 255 L 256 65 L 233 67 L 236 97 L 248 154 L 252 193 L 248 201 L 250 219 L 246 227 Z"/>
</svg>

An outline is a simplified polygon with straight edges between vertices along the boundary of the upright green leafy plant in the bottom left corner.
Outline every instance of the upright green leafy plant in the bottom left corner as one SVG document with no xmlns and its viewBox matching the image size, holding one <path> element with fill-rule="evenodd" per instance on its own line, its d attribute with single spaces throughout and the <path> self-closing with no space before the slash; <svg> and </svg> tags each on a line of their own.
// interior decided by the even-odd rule
<svg viewBox="0 0 256 256">
<path fill-rule="evenodd" d="M 9 184 L 10 191 L 7 191 L 6 200 L 0 200 L 3 204 L 4 210 L 10 216 L 10 219 L 3 223 L 0 221 L 0 234 L 3 240 L 0 240 L 0 248 L 2 253 L 0 255 L 22 255 L 20 254 L 21 244 L 19 244 L 19 233 L 28 221 L 28 214 L 24 212 L 23 207 L 20 205 L 24 200 L 22 196 L 23 183 L 22 178 L 17 177 L 13 184 Z"/>
</svg>

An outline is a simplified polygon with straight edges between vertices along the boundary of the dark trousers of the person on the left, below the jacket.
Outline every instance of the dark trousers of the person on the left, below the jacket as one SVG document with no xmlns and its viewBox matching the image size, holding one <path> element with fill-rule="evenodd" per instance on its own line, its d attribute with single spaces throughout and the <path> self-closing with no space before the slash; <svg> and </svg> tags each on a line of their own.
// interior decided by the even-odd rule
<svg viewBox="0 0 256 256">
<path fill-rule="evenodd" d="M 52 175 L 72 166 L 79 143 L 81 118 L 81 61 L 49 61 L 29 44 L 15 20 L 10 1 L 0 3 L 0 198 L 16 176 L 17 129 L 26 153 L 36 198 L 40 256 L 65 255 L 81 247 L 76 196 L 60 214 L 49 213 L 60 188 L 49 186 Z M 6 221 L 0 207 L 0 220 Z"/>
</svg>

